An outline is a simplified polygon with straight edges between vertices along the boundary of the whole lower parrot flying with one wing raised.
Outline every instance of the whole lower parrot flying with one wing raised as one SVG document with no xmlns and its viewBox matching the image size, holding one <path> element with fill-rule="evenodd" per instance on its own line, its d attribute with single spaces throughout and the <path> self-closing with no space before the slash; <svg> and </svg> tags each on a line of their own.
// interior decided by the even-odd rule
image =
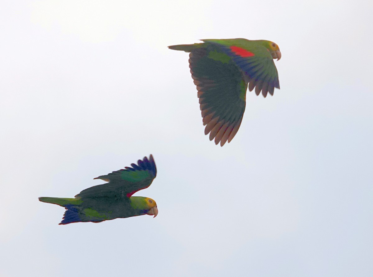
<svg viewBox="0 0 373 277">
<path fill-rule="evenodd" d="M 67 211 L 60 224 L 72 222 L 101 222 L 115 218 L 134 217 L 137 215 L 158 214 L 157 204 L 153 199 L 132 196 L 135 192 L 146 189 L 156 178 L 157 168 L 153 155 L 138 165 L 125 167 L 94 179 L 109 183 L 82 190 L 75 198 L 39 197 L 41 202 L 57 204 Z"/>
</svg>

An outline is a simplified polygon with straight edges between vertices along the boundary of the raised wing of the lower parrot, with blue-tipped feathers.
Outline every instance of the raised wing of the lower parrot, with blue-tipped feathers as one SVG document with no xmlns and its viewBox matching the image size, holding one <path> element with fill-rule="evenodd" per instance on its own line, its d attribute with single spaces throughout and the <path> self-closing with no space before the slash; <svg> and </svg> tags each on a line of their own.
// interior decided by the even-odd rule
<svg viewBox="0 0 373 277">
<path fill-rule="evenodd" d="M 131 197 L 135 192 L 150 186 L 157 175 L 157 168 L 154 163 L 153 155 L 150 155 L 149 159 L 144 157 L 143 161 L 138 160 L 138 165 L 131 164 L 131 166 L 132 167 L 125 167 L 125 169 L 113 171 L 107 175 L 94 178 L 109 183 L 82 190 L 75 197 L 109 197 L 123 199 L 125 197 Z"/>
</svg>

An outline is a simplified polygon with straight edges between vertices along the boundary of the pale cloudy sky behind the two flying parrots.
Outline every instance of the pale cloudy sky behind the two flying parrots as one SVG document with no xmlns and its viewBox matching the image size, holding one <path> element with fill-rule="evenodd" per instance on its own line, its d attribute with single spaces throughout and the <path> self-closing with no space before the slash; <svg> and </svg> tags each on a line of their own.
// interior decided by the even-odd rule
<svg viewBox="0 0 373 277">
<path fill-rule="evenodd" d="M 372 276 L 373 4 L 2 1 L 0 276 Z M 188 54 L 277 43 L 280 90 L 204 135 Z M 159 215 L 58 225 L 154 155 Z"/>
</svg>

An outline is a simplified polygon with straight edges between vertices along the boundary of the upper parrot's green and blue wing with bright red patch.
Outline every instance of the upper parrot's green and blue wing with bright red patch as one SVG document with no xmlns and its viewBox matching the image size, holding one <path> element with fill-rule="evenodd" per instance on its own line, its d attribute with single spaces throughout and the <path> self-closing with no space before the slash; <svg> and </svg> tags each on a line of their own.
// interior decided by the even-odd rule
<svg viewBox="0 0 373 277">
<path fill-rule="evenodd" d="M 257 95 L 262 92 L 266 97 L 269 92 L 273 95 L 280 88 L 279 76 L 273 57 L 269 50 L 258 41 L 242 38 L 229 40 L 203 40 L 219 47 L 222 52 L 232 58 L 234 63 L 244 72 L 245 82 L 249 90 L 255 88 Z M 250 53 L 252 55 L 250 55 Z"/>
</svg>

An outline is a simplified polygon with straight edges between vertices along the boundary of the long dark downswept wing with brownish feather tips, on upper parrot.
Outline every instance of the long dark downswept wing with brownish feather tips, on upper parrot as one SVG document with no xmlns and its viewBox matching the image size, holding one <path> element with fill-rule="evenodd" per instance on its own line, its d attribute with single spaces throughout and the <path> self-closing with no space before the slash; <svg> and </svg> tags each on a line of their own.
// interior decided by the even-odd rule
<svg viewBox="0 0 373 277">
<path fill-rule="evenodd" d="M 223 146 L 241 125 L 247 90 L 244 76 L 228 55 L 211 44 L 191 51 L 189 68 L 197 85 L 205 134 Z"/>
</svg>

